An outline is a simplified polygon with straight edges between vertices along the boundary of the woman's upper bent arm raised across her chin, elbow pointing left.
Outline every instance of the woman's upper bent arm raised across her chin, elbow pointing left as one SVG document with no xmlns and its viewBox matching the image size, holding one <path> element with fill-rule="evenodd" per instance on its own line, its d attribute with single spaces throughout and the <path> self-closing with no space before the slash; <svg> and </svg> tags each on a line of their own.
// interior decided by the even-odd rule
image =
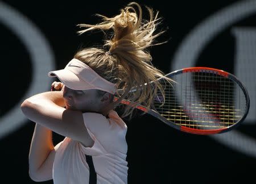
<svg viewBox="0 0 256 184">
<path fill-rule="evenodd" d="M 22 112 L 32 122 L 83 143 L 88 132 L 82 112 L 66 110 L 63 106 L 62 91 L 36 94 L 21 104 Z"/>
</svg>

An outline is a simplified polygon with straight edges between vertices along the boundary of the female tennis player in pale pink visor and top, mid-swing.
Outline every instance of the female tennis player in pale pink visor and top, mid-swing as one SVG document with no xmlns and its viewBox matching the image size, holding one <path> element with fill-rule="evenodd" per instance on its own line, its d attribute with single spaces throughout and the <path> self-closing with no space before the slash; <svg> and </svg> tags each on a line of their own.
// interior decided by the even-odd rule
<svg viewBox="0 0 256 184">
<path fill-rule="evenodd" d="M 142 19 L 142 7 L 129 3 L 119 15 L 101 16 L 99 24 L 79 24 L 84 30 L 110 30 L 111 39 L 102 48 L 82 48 L 64 69 L 48 73 L 53 91 L 36 94 L 21 104 L 24 115 L 35 122 L 29 153 L 29 174 L 34 181 L 53 179 L 65 183 L 127 183 L 127 126 L 133 106 L 120 116 L 114 110 L 119 101 L 150 107 L 155 85 L 142 85 L 163 77 L 151 63 L 146 50 L 152 46 L 158 12 L 147 7 L 149 19 Z M 108 31 L 108 32 L 110 32 Z M 128 93 L 131 89 L 137 89 Z M 139 89 L 139 90 L 138 90 Z M 59 90 L 59 91 L 58 91 Z M 53 145 L 52 131 L 64 136 Z"/>
</svg>

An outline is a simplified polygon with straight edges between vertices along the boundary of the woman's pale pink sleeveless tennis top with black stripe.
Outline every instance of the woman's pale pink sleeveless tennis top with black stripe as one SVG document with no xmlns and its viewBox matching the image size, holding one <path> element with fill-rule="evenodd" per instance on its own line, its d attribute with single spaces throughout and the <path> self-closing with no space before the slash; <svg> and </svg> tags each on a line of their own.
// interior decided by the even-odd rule
<svg viewBox="0 0 256 184">
<path fill-rule="evenodd" d="M 93 112 L 83 114 L 85 127 L 94 140 L 92 147 L 84 147 L 68 137 L 61 142 L 53 162 L 55 184 L 89 183 L 89 166 L 85 154 L 92 156 L 97 183 L 127 183 L 127 126 L 117 112 L 109 118 Z"/>
</svg>

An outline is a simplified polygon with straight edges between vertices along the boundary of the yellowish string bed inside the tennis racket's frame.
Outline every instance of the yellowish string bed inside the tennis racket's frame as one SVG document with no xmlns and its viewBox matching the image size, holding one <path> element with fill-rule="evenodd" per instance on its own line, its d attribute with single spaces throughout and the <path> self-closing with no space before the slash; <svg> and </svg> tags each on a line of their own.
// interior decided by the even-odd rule
<svg viewBox="0 0 256 184">
<path fill-rule="evenodd" d="M 167 120 L 195 129 L 232 126 L 242 118 L 245 99 L 236 82 L 215 73 L 181 73 L 177 83 L 165 86 L 163 97 L 155 97 L 155 110 Z"/>
</svg>

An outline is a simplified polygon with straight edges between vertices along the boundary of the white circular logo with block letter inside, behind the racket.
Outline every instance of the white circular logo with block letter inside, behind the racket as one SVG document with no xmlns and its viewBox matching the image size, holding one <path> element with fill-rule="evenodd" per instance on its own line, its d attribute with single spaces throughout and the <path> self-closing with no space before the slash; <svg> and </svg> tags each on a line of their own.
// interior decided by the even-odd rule
<svg viewBox="0 0 256 184">
<path fill-rule="evenodd" d="M 243 20 L 247 18 L 250 15 L 253 15 L 256 13 L 256 1 L 241 1 L 238 3 L 234 3 L 233 5 L 226 7 L 225 9 L 222 9 L 221 11 L 218 11 L 216 14 L 213 14 L 203 22 L 199 24 L 199 26 L 195 27 L 187 37 L 182 41 L 179 49 L 177 49 L 177 52 L 174 56 L 174 60 L 171 61 L 171 71 L 195 66 L 196 64 L 196 58 L 200 55 L 200 52 L 203 51 L 205 45 L 207 45 L 216 35 L 220 34 L 221 31 L 223 31 L 225 28 L 232 26 L 232 24 Z M 243 31 L 243 32 L 242 32 Z M 245 33 L 245 29 L 234 29 L 234 33 L 241 38 L 241 33 Z M 247 32 L 250 32 L 251 29 Z M 256 31 L 254 30 L 254 34 L 256 35 Z M 256 36 L 254 36 L 256 38 Z M 250 37 L 251 39 L 251 37 Z M 245 43 L 240 41 L 240 43 Z M 251 44 L 251 41 L 250 41 Z M 254 43 L 255 44 L 255 43 Z M 243 45 L 244 47 L 244 45 Z M 251 47 L 251 45 L 250 45 Z M 239 47 L 238 47 L 239 48 Z M 254 49 L 256 48 L 253 47 Z M 241 51 L 245 51 L 246 49 L 241 49 Z M 253 51 L 255 54 L 255 51 Z M 237 53 L 236 53 L 237 54 Z M 241 56 L 246 56 L 247 58 L 245 60 L 241 60 Z M 249 75 L 249 70 L 243 70 L 242 73 L 239 73 L 237 68 L 238 66 L 238 60 L 241 60 L 242 65 L 246 65 L 246 60 L 248 61 L 247 67 L 256 68 L 256 63 L 254 58 L 249 60 L 248 55 L 242 55 L 240 53 L 240 57 L 236 56 L 236 62 L 235 64 L 235 75 L 238 76 L 240 79 L 243 79 L 245 77 L 242 77 L 243 75 Z M 254 71 L 254 70 L 252 70 Z M 251 75 L 255 76 L 255 73 L 251 73 Z M 248 77 L 250 78 L 250 77 Z M 254 77 L 255 80 L 255 77 Z M 245 82 L 245 81 L 242 81 Z M 255 83 L 255 81 L 253 82 Z M 250 95 L 250 101 L 251 101 L 251 107 L 250 112 L 245 120 L 245 124 L 252 126 L 251 122 L 256 121 L 255 118 L 255 86 L 249 85 L 249 83 L 246 84 L 246 87 L 248 87 L 248 92 Z M 255 126 L 255 124 L 253 125 Z M 247 136 L 241 132 L 238 132 L 237 130 L 233 130 L 230 132 L 213 135 L 210 136 L 214 140 L 217 140 L 218 142 L 228 146 L 229 148 L 235 149 L 240 151 L 241 153 L 247 154 L 249 156 L 256 157 L 256 141 L 253 139 L 253 137 Z"/>
</svg>

